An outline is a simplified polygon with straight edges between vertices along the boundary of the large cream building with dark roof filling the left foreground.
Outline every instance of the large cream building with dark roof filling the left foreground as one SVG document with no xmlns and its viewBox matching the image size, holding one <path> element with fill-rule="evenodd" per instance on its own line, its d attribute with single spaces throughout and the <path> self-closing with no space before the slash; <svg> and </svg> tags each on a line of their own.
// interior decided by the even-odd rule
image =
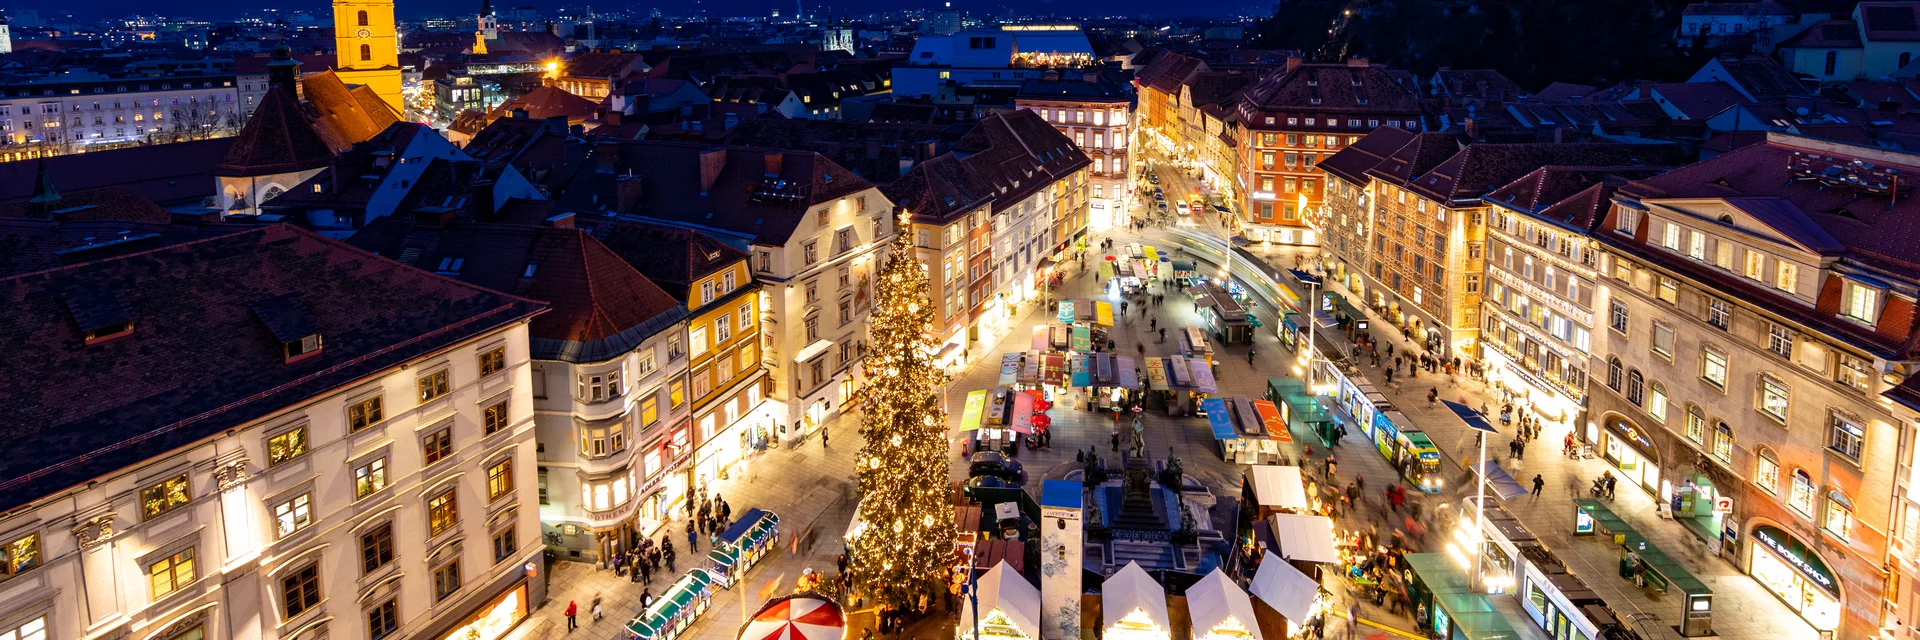
<svg viewBox="0 0 1920 640">
<path fill-rule="evenodd" d="M 493 640 L 545 600 L 541 304 L 290 225 L 4 296 L 33 455 L 0 473 L 0 636 Z"/>
</svg>

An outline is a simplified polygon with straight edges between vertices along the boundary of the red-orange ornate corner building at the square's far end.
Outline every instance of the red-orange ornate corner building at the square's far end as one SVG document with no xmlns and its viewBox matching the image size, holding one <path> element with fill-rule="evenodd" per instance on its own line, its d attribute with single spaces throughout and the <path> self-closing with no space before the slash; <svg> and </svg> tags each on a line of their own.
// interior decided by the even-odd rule
<svg viewBox="0 0 1920 640">
<path fill-rule="evenodd" d="M 1256 242 L 1321 244 L 1327 179 L 1319 161 L 1380 127 L 1421 129 L 1419 96 L 1365 58 L 1290 58 L 1240 92 L 1236 108 L 1244 135 L 1235 209 Z"/>
</svg>

